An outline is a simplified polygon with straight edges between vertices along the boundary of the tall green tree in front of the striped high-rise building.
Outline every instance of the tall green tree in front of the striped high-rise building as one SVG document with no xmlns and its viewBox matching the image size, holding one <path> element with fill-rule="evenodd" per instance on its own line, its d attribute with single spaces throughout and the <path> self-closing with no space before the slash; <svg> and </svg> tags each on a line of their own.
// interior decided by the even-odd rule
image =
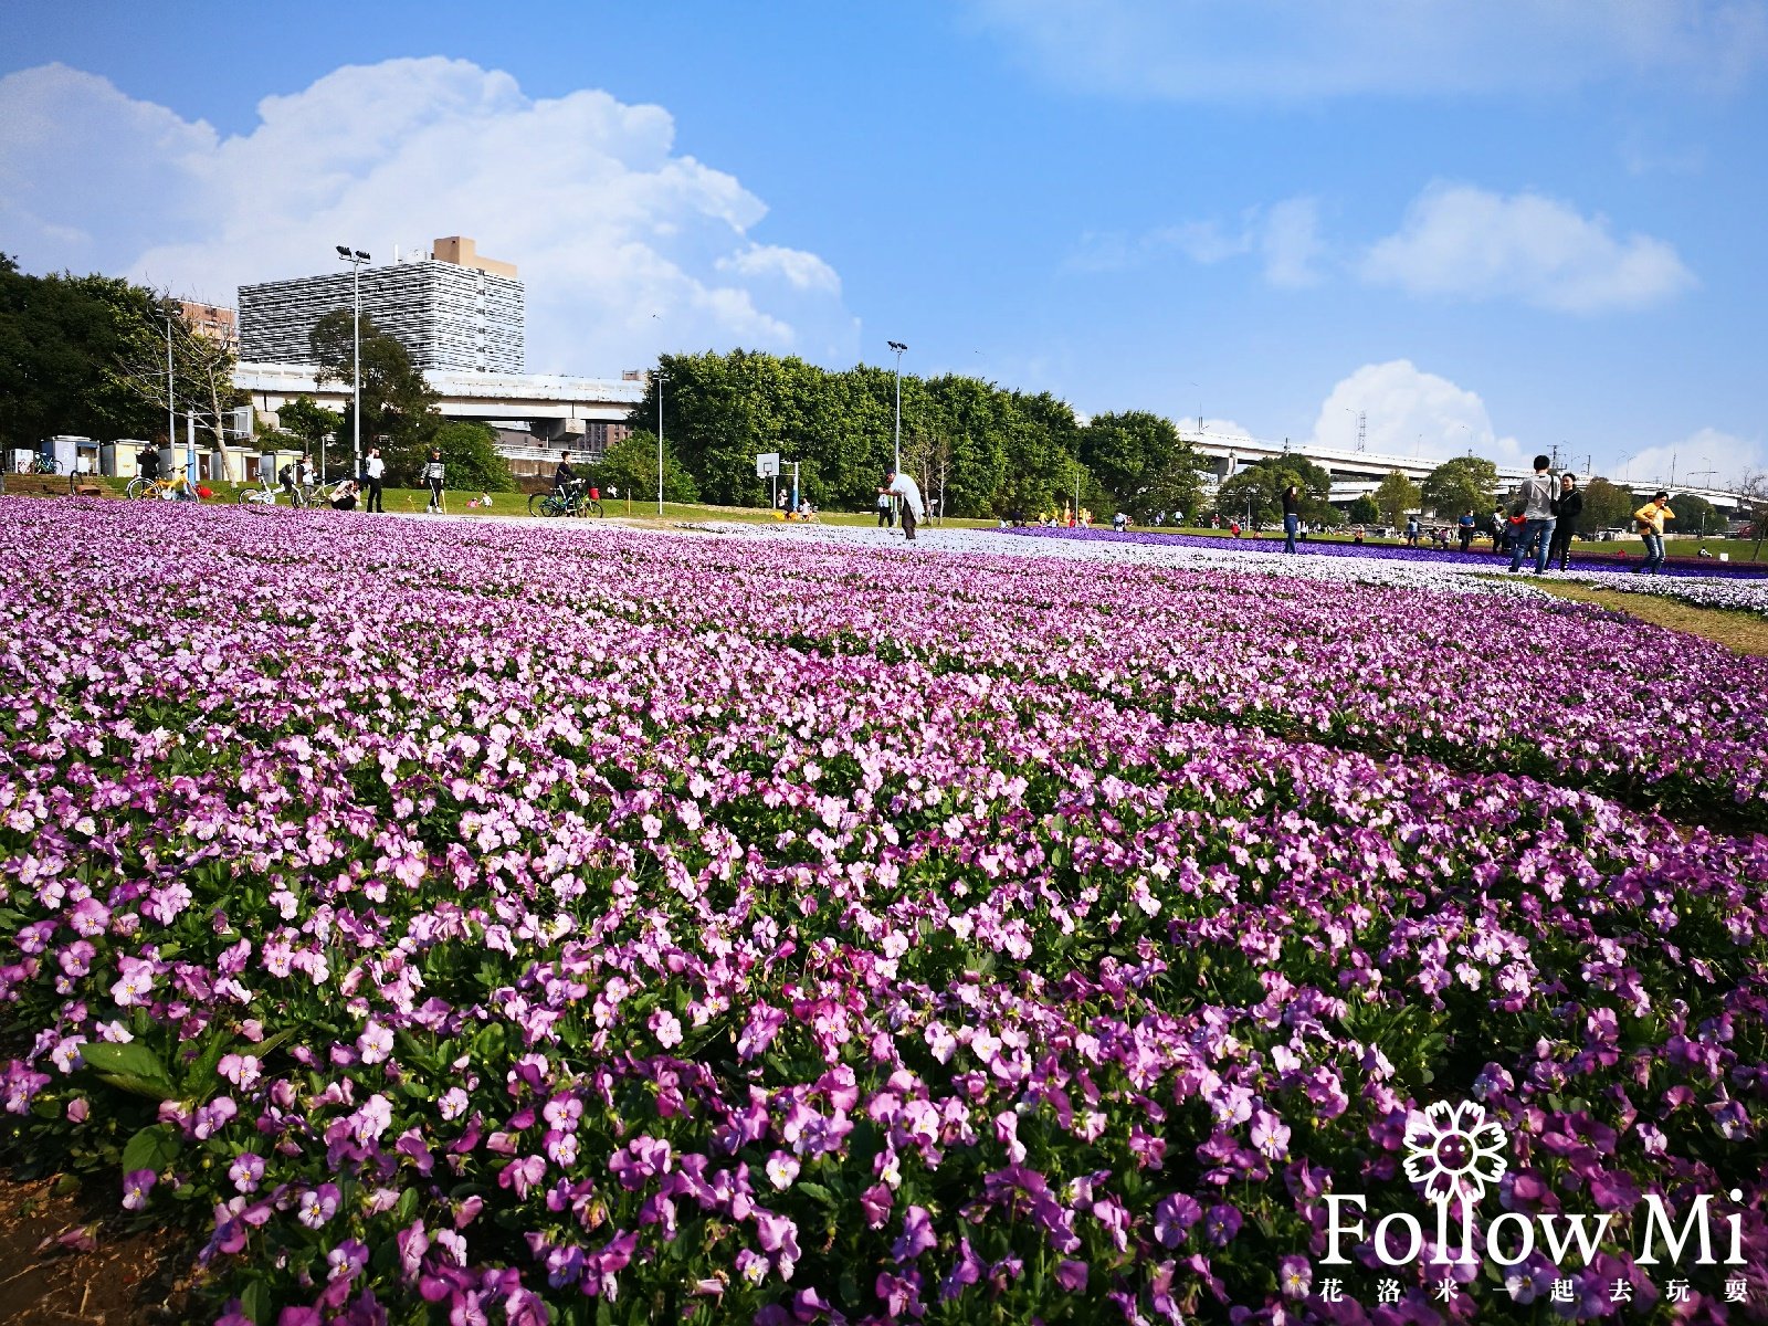
<svg viewBox="0 0 1768 1326">
<path fill-rule="evenodd" d="M 350 309 L 332 309 L 322 316 L 308 336 L 320 382 L 355 380 L 354 325 Z M 430 440 L 442 424 L 437 414 L 437 394 L 412 357 L 392 336 L 373 320 L 362 318 L 362 451 L 371 438 L 387 438 L 380 447 L 387 461 L 387 481 L 394 486 L 417 484 Z M 345 407 L 338 440 L 354 447 L 352 407 Z M 350 454 L 347 451 L 345 454 Z M 449 479 L 453 483 L 453 477 Z"/>
</svg>

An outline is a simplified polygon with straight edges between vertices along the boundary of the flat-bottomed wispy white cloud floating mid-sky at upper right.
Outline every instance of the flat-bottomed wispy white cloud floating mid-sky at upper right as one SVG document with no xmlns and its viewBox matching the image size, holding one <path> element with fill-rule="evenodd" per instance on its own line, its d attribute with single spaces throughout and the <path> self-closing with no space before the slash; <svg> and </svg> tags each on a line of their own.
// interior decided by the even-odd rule
<svg viewBox="0 0 1768 1326">
<path fill-rule="evenodd" d="M 1694 285 L 1676 249 L 1536 193 L 1434 184 L 1358 267 L 1413 295 L 1517 299 L 1559 313 L 1658 304 Z"/>
</svg>

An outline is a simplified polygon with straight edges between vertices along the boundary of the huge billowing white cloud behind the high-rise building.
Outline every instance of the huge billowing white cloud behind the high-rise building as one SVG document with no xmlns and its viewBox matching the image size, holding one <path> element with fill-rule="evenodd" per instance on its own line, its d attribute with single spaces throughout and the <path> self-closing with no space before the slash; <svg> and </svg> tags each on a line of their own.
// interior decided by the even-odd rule
<svg viewBox="0 0 1768 1326">
<path fill-rule="evenodd" d="M 223 136 L 57 64 L 0 78 L 0 225 L 28 271 L 232 304 L 242 283 L 334 267 L 334 244 L 382 262 L 472 235 L 520 269 L 530 371 L 856 354 L 834 271 L 757 239 L 760 198 L 677 152 L 668 111 L 606 92 L 530 97 L 467 60 L 387 60 L 265 97 Z"/>
</svg>

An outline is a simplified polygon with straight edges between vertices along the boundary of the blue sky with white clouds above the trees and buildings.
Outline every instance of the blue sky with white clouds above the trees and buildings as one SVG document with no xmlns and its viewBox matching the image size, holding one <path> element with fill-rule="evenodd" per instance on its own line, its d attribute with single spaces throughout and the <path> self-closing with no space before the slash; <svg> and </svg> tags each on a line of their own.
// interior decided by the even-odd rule
<svg viewBox="0 0 1768 1326">
<path fill-rule="evenodd" d="M 152 12 L 149 12 L 152 11 Z M 216 302 L 469 233 L 536 371 L 1768 467 L 1768 0 L 0 0 L 0 249 Z"/>
</svg>

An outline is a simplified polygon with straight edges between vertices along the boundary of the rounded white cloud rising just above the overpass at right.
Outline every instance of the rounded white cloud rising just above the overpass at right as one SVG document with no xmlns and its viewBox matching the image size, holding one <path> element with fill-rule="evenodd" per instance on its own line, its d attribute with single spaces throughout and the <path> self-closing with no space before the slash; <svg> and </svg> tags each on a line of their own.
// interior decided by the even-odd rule
<svg viewBox="0 0 1768 1326">
<path fill-rule="evenodd" d="M 1499 465 L 1522 460 L 1513 437 L 1499 437 L 1478 392 L 1425 373 L 1409 359 L 1365 364 L 1340 380 L 1321 403 L 1314 444 L 1351 451 L 1358 414 L 1367 415 L 1365 447 L 1386 456 L 1448 460 L 1485 456 Z"/>
</svg>

